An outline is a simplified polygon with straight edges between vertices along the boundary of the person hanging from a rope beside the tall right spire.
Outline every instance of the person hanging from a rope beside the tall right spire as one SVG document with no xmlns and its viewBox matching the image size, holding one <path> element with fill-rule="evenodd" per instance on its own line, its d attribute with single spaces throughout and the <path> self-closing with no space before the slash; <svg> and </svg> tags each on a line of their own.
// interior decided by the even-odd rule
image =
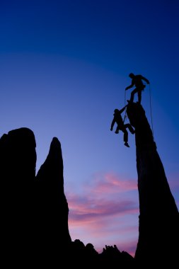
<svg viewBox="0 0 179 269">
<path fill-rule="evenodd" d="M 125 111 L 125 108 L 127 107 L 127 105 L 125 105 L 124 108 L 122 108 L 121 110 L 118 110 L 117 108 L 114 110 L 114 118 L 111 122 L 111 127 L 110 127 L 110 130 L 112 131 L 113 130 L 113 127 L 115 125 L 115 123 L 117 123 L 117 127 L 116 127 L 116 130 L 115 130 L 115 134 L 118 134 L 119 133 L 119 130 L 121 130 L 122 132 L 124 132 L 124 142 L 125 142 L 125 146 L 126 147 L 129 147 L 129 144 L 128 144 L 128 132 L 127 132 L 127 128 L 129 129 L 129 131 L 134 134 L 134 129 L 132 128 L 132 125 L 130 125 L 129 123 L 127 124 L 124 124 L 123 120 L 122 120 L 122 112 Z"/>
</svg>

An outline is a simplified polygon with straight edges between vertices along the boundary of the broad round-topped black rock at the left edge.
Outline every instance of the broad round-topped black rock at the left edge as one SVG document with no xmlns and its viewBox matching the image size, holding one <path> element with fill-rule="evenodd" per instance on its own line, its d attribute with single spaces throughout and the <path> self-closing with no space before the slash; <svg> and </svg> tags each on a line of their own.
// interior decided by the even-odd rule
<svg viewBox="0 0 179 269">
<path fill-rule="evenodd" d="M 35 137 L 28 128 L 0 139 L 1 257 L 9 263 L 31 258 L 35 235 Z"/>
</svg>

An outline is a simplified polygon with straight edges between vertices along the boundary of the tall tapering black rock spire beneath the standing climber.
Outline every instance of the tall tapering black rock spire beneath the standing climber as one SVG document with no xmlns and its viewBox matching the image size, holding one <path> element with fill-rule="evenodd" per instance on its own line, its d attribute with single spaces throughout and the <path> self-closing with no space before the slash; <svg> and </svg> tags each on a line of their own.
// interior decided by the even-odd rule
<svg viewBox="0 0 179 269">
<path fill-rule="evenodd" d="M 179 214 L 144 108 L 127 106 L 135 127 L 139 189 L 139 241 L 135 259 L 142 265 L 178 261 Z"/>
</svg>

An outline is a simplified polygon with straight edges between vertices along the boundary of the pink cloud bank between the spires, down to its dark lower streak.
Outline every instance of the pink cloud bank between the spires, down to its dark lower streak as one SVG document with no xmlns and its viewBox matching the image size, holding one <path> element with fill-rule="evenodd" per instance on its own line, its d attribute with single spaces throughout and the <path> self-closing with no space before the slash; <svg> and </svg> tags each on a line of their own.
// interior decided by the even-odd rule
<svg viewBox="0 0 179 269">
<path fill-rule="evenodd" d="M 127 195 L 131 190 L 137 190 L 136 184 L 129 180 L 122 181 L 112 173 L 105 174 L 103 178 L 93 178 L 91 185 L 84 186 L 82 194 L 67 193 L 70 221 L 73 219 L 81 222 L 96 217 L 137 212 L 137 203 Z M 121 199 L 121 192 L 125 193 L 125 200 Z"/>
</svg>

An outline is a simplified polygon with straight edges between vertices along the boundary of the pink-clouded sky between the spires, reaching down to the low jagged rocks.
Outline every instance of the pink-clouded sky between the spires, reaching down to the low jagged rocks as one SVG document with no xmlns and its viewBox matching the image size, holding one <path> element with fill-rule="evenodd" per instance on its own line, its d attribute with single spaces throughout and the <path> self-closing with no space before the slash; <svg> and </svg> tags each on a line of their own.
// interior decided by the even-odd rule
<svg viewBox="0 0 179 269">
<path fill-rule="evenodd" d="M 81 193 L 67 192 L 71 238 L 91 242 L 97 251 L 112 242 L 126 244 L 132 255 L 134 246 L 127 242 L 138 236 L 137 199 L 137 183 L 112 173 L 96 175 Z M 136 247 L 137 238 L 134 242 Z"/>
</svg>

